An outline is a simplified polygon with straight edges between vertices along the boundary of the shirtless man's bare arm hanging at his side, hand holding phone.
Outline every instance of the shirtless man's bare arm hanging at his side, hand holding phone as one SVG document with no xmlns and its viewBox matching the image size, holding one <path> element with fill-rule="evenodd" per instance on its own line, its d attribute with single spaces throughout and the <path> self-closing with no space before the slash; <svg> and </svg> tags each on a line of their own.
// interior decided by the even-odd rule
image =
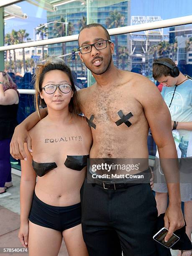
<svg viewBox="0 0 192 256">
<path fill-rule="evenodd" d="M 158 147 L 169 193 L 169 207 L 164 218 L 165 227 L 169 229 L 165 237 L 165 241 L 167 241 L 174 230 L 184 226 L 177 151 L 172 136 L 171 116 L 158 88 L 146 78 L 139 83 L 142 84 L 142 87 L 138 86 L 138 100 L 143 106 L 151 133 Z"/>
</svg>

